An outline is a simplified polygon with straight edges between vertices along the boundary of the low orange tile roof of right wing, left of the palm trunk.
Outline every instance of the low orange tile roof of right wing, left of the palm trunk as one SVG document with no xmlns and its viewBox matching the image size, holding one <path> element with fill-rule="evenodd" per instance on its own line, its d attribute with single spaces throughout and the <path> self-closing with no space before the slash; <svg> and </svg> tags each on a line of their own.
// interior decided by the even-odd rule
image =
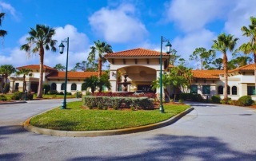
<svg viewBox="0 0 256 161">
<path fill-rule="evenodd" d="M 219 79 L 219 74 L 223 74 L 223 70 L 192 70 L 193 77 L 198 79 Z"/>
</svg>

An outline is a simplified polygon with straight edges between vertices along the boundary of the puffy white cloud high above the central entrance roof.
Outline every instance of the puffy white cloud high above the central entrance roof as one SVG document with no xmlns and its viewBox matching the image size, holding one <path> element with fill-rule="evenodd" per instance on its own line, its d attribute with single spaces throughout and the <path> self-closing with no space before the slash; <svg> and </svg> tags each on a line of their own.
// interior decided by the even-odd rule
<svg viewBox="0 0 256 161">
<path fill-rule="evenodd" d="M 136 18 L 135 8 L 129 4 L 114 10 L 102 8 L 90 16 L 94 33 L 108 42 L 130 43 L 142 41 L 148 33 L 142 22 Z"/>
</svg>

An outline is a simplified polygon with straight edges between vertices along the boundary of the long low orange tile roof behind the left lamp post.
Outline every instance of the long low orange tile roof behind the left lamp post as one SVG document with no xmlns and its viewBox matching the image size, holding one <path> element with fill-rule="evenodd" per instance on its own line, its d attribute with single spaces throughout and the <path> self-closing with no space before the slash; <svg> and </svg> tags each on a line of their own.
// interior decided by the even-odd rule
<svg viewBox="0 0 256 161">
<path fill-rule="evenodd" d="M 98 72 L 68 72 L 67 78 L 86 78 L 98 76 Z M 65 78 L 65 72 L 54 72 L 46 76 L 48 79 Z"/>
</svg>

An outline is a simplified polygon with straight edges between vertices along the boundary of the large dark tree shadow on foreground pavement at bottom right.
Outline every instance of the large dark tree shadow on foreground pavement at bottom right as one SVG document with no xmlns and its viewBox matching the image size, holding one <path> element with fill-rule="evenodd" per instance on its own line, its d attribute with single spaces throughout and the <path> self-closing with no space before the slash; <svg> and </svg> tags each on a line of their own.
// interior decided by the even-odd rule
<svg viewBox="0 0 256 161">
<path fill-rule="evenodd" d="M 157 135 L 148 139 L 151 151 L 117 157 L 78 157 L 75 160 L 255 160 L 256 151 L 236 151 L 214 137 Z M 134 147 L 139 148 L 139 147 Z M 116 155 L 116 154 L 115 154 Z"/>
</svg>

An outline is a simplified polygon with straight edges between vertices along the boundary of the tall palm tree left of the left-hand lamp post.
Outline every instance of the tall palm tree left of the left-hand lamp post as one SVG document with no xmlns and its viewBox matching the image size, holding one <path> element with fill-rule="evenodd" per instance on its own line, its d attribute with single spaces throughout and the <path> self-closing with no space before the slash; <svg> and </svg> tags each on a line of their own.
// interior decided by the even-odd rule
<svg viewBox="0 0 256 161">
<path fill-rule="evenodd" d="M 42 98 L 42 80 L 43 80 L 43 59 L 46 50 L 56 52 L 56 40 L 52 37 L 55 34 L 55 29 L 49 26 L 36 25 L 36 29 L 30 28 L 30 37 L 26 37 L 27 44 L 21 46 L 21 50 L 25 50 L 30 57 L 31 53 L 38 53 L 40 56 L 40 77 L 38 86 L 38 98 Z M 34 46 L 33 46 L 34 45 Z"/>
</svg>

